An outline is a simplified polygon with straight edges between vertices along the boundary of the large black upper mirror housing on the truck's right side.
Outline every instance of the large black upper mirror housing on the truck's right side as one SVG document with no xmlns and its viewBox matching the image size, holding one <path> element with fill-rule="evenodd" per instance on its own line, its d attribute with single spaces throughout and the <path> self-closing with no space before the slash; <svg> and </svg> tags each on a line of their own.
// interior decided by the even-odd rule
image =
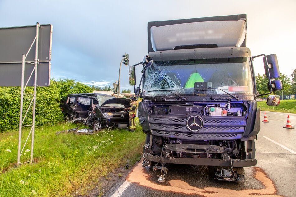
<svg viewBox="0 0 296 197">
<path fill-rule="evenodd" d="M 267 55 L 266 59 L 267 59 L 267 63 L 266 63 L 265 57 L 263 57 L 263 61 L 265 65 L 265 75 L 268 77 L 268 70 L 269 70 L 270 79 L 280 77 L 279 64 L 278 64 L 278 59 L 276 57 L 276 54 Z"/>
</svg>

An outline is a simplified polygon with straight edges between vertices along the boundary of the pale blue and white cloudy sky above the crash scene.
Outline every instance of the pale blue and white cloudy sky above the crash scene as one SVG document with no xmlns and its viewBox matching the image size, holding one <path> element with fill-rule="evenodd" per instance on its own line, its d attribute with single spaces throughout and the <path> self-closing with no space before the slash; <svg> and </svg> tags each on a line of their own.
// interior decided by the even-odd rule
<svg viewBox="0 0 296 197">
<path fill-rule="evenodd" d="M 280 72 L 290 77 L 296 68 L 295 8 L 295 0 L 0 0 L 0 28 L 52 24 L 51 78 L 113 87 L 122 55 L 128 53 L 133 65 L 147 54 L 148 21 L 247 14 L 252 56 L 277 54 Z M 257 59 L 255 74 L 262 75 Z M 132 87 L 122 65 L 124 89 Z"/>
</svg>

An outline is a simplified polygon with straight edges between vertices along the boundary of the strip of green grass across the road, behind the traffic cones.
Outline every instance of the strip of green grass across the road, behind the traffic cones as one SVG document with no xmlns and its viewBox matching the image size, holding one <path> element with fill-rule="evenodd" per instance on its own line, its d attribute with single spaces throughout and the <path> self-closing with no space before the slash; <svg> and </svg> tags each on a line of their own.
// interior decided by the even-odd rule
<svg viewBox="0 0 296 197">
<path fill-rule="evenodd" d="M 259 101 L 257 106 L 260 106 L 260 111 L 296 113 L 296 100 L 282 100 L 276 107 L 268 106 L 266 101 Z"/>
</svg>

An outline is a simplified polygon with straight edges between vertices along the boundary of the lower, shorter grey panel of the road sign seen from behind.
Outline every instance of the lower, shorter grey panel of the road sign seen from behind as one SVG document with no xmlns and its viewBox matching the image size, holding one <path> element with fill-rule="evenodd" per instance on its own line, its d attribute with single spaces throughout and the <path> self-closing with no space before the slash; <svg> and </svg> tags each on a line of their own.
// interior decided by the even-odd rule
<svg viewBox="0 0 296 197">
<path fill-rule="evenodd" d="M 0 64 L 0 85 L 1 86 L 21 86 L 21 63 Z M 34 64 L 25 63 L 25 81 L 29 79 L 34 69 Z M 27 86 L 34 86 L 34 73 Z M 50 85 L 50 62 L 39 62 L 37 67 L 37 86 L 46 87 Z"/>
</svg>

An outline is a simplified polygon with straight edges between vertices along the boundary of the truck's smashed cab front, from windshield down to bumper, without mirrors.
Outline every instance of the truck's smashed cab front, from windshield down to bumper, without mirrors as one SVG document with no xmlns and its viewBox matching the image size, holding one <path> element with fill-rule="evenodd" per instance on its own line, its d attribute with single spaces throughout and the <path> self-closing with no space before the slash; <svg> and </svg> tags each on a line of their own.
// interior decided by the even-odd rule
<svg viewBox="0 0 296 197">
<path fill-rule="evenodd" d="M 233 54 L 230 48 L 212 50 Z M 143 165 L 256 165 L 260 110 L 251 58 L 190 59 L 195 52 L 186 49 L 184 59 L 166 60 L 180 58 L 171 53 L 151 52 L 153 62 L 144 66 L 138 108 L 147 134 Z"/>
</svg>

